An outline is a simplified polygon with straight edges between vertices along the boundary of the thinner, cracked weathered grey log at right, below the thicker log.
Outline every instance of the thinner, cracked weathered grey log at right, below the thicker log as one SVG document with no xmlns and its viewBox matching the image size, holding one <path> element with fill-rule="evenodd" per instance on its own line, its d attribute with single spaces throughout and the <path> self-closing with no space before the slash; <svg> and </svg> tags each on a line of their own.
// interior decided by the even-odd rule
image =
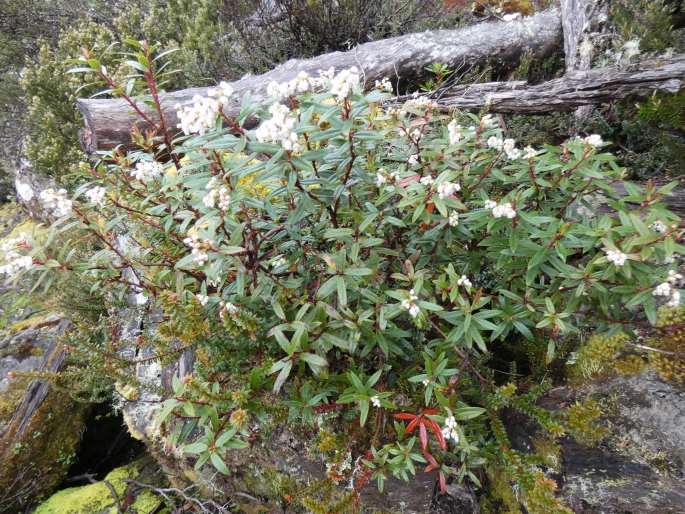
<svg viewBox="0 0 685 514">
<path fill-rule="evenodd" d="M 439 103 L 445 107 L 519 114 L 572 111 L 653 91 L 676 93 L 685 87 L 685 55 L 620 67 L 576 71 L 542 84 L 488 82 L 453 88 Z"/>
</svg>

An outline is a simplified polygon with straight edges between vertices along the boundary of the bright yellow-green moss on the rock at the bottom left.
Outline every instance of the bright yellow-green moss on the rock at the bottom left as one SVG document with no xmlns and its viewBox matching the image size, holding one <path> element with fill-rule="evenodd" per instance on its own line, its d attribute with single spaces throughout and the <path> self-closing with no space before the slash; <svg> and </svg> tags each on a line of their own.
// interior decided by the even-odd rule
<svg viewBox="0 0 685 514">
<path fill-rule="evenodd" d="M 137 463 L 117 468 L 106 477 L 118 498 L 126 496 L 128 484 L 126 479 L 136 479 L 140 471 Z M 151 514 L 159 507 L 160 499 L 151 491 L 140 492 L 135 501 L 126 509 L 130 514 Z M 104 482 L 97 482 L 82 487 L 70 487 L 53 494 L 42 503 L 34 514 L 116 514 L 116 501 L 112 491 Z"/>
</svg>

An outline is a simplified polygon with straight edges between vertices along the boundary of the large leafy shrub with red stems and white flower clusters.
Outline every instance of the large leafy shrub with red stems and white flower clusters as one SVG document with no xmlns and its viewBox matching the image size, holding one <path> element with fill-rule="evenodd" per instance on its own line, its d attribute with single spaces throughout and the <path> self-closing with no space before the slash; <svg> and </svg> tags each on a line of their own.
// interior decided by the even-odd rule
<svg viewBox="0 0 685 514">
<path fill-rule="evenodd" d="M 199 359 L 160 419 L 197 467 L 228 473 L 231 450 L 285 409 L 349 438 L 323 456 L 355 487 L 417 466 L 443 488 L 478 483 L 486 457 L 525 470 L 498 409 L 565 428 L 534 394 L 496 387 L 489 353 L 527 339 L 551 360 L 564 335 L 655 323 L 679 301 L 682 232 L 660 203 L 674 184 L 623 182 L 598 136 L 520 148 L 492 116 L 397 105 L 382 83 L 365 94 L 355 69 L 269 91 L 232 119 L 222 84 L 179 106 L 171 148 L 110 153 L 73 203 L 45 194 L 59 252 L 22 240 L 3 267 L 77 273 L 163 311 L 147 344 Z M 84 238 L 99 251 L 72 251 Z"/>
</svg>

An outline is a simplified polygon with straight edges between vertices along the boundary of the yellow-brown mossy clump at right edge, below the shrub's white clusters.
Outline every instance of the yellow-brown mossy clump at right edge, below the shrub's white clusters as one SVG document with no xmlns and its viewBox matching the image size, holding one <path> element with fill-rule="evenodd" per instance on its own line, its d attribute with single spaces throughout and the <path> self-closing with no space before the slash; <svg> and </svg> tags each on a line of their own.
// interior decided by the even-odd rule
<svg viewBox="0 0 685 514">
<path fill-rule="evenodd" d="M 650 344 L 676 354 L 649 353 L 649 360 L 659 374 L 666 380 L 685 383 L 685 308 L 662 307 L 659 310 L 657 336 Z"/>
</svg>

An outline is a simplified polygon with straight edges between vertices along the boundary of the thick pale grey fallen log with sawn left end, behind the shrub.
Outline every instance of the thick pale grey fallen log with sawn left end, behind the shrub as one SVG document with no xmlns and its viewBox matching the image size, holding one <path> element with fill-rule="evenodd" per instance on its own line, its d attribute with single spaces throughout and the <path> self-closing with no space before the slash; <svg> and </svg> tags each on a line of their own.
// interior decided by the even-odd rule
<svg viewBox="0 0 685 514">
<path fill-rule="evenodd" d="M 316 75 L 330 67 L 336 70 L 357 66 L 364 72 L 367 84 L 388 77 L 414 80 L 424 75 L 426 66 L 440 62 L 452 69 L 492 62 L 494 59 L 513 63 L 528 52 L 543 58 L 560 46 L 561 16 L 553 8 L 512 22 L 487 22 L 458 30 L 429 31 L 359 45 L 348 52 L 333 52 L 312 59 L 293 59 L 259 76 L 248 76 L 232 83 L 236 97 L 244 93 L 256 98 L 265 95 L 271 81 L 285 82 L 300 71 Z M 161 101 L 168 126 L 178 123 L 174 105 L 189 104 L 196 94 L 205 95 L 207 88 L 192 88 L 162 95 Z M 149 128 L 121 99 L 80 99 L 77 101 L 85 120 L 81 144 L 87 153 L 129 146 L 131 128 Z M 237 105 L 234 107 L 237 111 Z M 151 118 L 156 116 L 149 110 Z"/>
</svg>

